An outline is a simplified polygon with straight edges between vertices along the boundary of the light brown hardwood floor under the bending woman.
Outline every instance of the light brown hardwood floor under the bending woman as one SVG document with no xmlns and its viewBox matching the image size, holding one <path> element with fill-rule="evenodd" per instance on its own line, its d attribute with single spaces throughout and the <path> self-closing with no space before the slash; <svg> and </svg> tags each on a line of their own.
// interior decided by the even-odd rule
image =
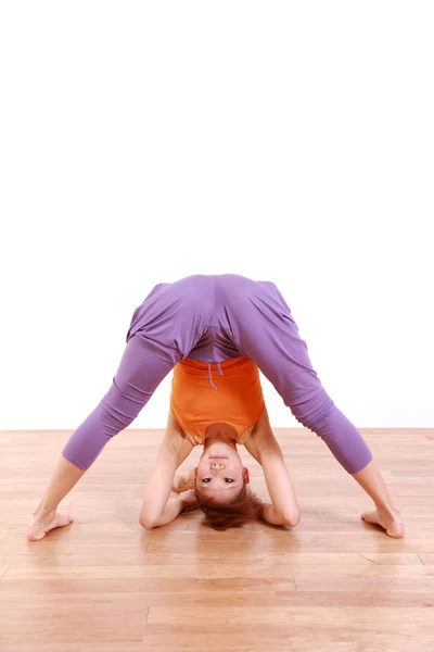
<svg viewBox="0 0 434 652">
<path fill-rule="evenodd" d="M 434 652 L 434 430 L 363 430 L 404 540 L 360 521 L 369 499 L 302 429 L 276 429 L 302 507 L 294 530 L 216 532 L 193 512 L 144 531 L 163 431 L 127 430 L 65 499 L 75 523 L 28 543 L 68 434 L 0 432 L 1 652 Z"/>
</svg>

